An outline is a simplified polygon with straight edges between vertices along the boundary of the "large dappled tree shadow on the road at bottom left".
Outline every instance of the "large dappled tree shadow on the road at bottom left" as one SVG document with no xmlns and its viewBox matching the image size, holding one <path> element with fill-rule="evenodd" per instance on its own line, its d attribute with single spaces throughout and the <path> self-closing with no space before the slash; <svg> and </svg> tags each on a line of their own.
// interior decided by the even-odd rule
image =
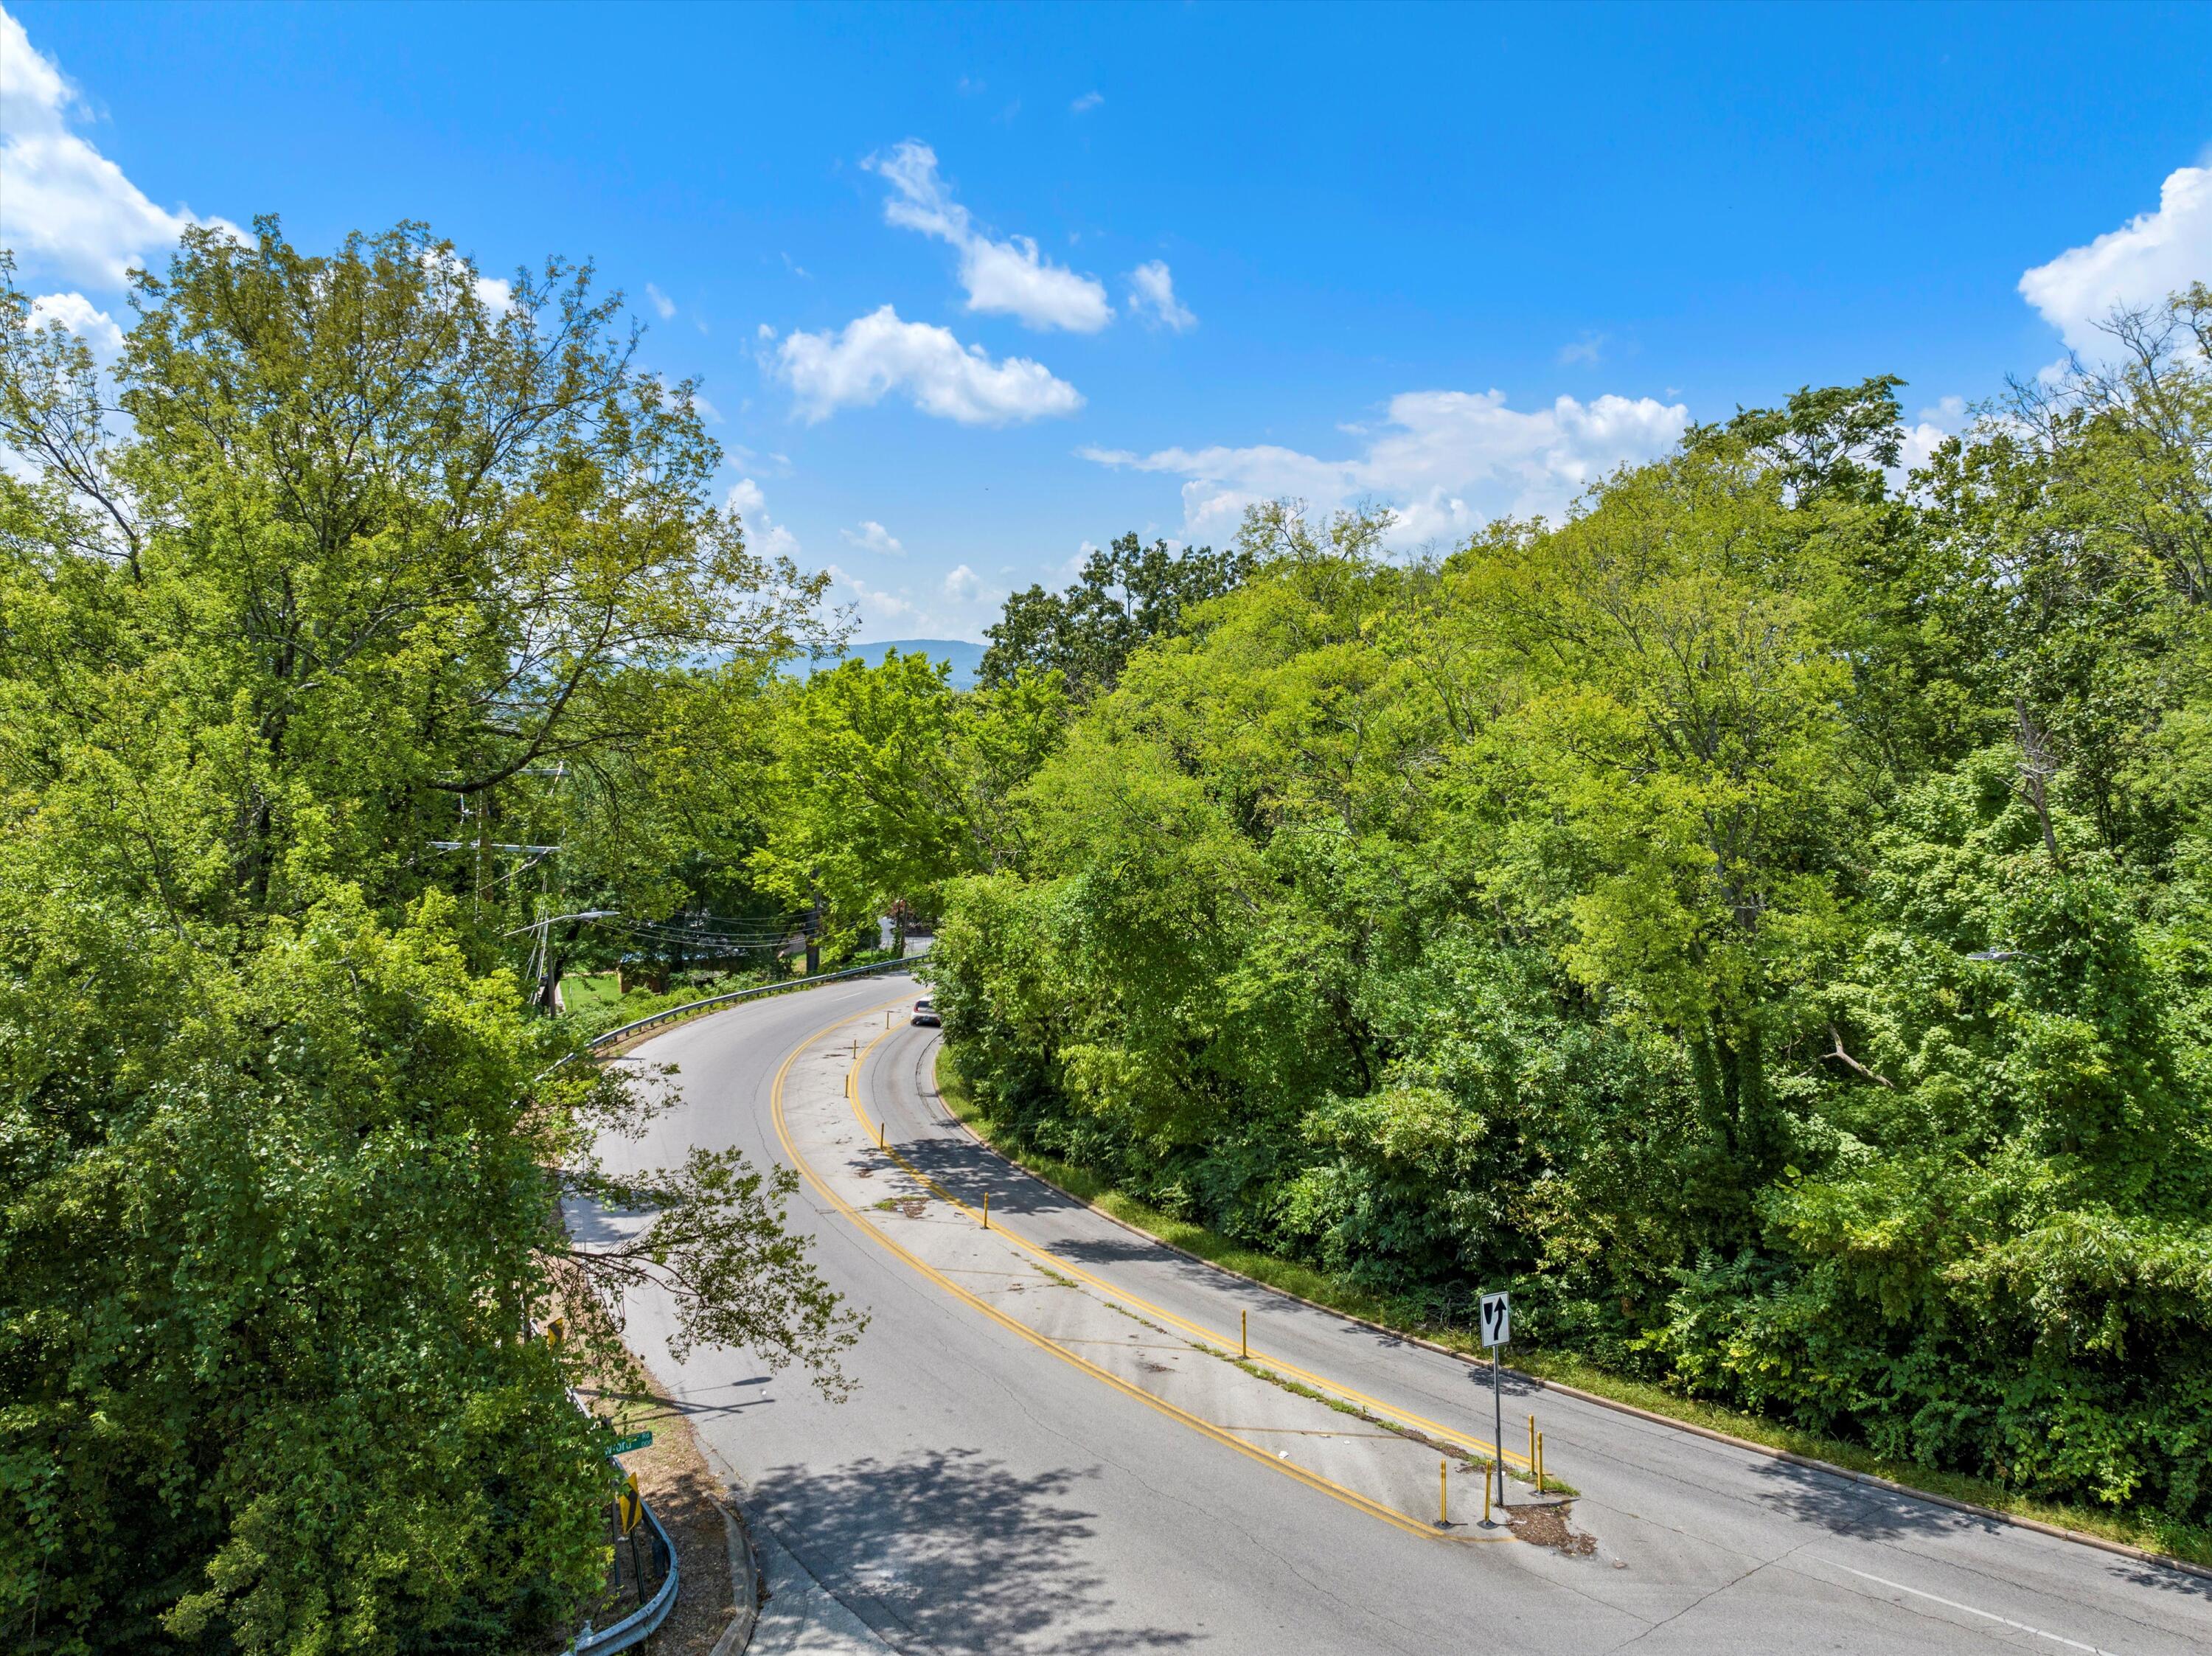
<svg viewBox="0 0 2212 1656">
<path fill-rule="evenodd" d="M 1194 1643 L 1115 1614 L 1086 1548 L 1093 1514 L 1068 1499 L 1084 1477 L 1022 1477 L 978 1450 L 914 1453 L 779 1466 L 745 1506 L 863 1621 L 929 1649 L 1104 1656 Z"/>
</svg>

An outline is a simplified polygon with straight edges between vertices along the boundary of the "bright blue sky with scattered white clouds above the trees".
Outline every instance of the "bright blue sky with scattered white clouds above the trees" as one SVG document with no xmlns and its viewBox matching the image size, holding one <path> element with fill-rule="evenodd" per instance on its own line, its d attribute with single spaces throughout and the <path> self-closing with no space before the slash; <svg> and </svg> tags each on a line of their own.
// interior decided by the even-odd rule
<svg viewBox="0 0 2212 1656">
<path fill-rule="evenodd" d="M 1272 493 L 1449 544 L 1807 382 L 1929 440 L 2212 279 L 2203 4 L 4 4 L 42 314 L 184 217 L 591 256 L 863 639 Z"/>
</svg>

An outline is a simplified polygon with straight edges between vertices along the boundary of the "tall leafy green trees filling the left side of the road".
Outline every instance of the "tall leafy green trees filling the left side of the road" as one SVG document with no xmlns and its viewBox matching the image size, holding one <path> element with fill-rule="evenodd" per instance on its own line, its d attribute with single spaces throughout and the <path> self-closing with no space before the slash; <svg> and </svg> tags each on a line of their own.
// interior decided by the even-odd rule
<svg viewBox="0 0 2212 1656">
<path fill-rule="evenodd" d="M 653 1097 L 551 1068 L 507 933 L 750 856 L 818 581 L 588 272 L 263 223 L 135 303 L 108 378 L 0 290 L 0 1643 L 557 1647 L 619 1291 L 832 1386 L 852 1324 L 737 1156 L 571 1249 Z"/>
</svg>

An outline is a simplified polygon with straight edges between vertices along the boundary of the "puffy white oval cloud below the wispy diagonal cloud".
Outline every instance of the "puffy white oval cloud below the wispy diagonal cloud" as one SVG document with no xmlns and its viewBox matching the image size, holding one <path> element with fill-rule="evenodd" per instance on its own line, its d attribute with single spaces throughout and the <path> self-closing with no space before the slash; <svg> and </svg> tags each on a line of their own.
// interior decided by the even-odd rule
<svg viewBox="0 0 2212 1656">
<path fill-rule="evenodd" d="M 785 336 L 774 369 L 799 394 L 807 422 L 872 407 L 889 391 L 962 425 L 1037 420 L 1084 405 L 1082 394 L 1042 363 L 1026 356 L 993 363 L 980 345 L 960 345 L 947 327 L 902 323 L 889 305 L 856 316 L 838 334 Z"/>
</svg>

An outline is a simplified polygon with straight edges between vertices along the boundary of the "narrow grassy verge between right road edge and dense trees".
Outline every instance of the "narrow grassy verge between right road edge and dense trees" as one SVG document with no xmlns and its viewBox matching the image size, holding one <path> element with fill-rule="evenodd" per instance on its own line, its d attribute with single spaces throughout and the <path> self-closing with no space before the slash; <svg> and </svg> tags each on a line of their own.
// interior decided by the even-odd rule
<svg viewBox="0 0 2212 1656">
<path fill-rule="evenodd" d="M 1345 1282 L 1343 1278 L 1312 1265 L 1298 1265 L 1296 1260 L 1276 1258 L 1274 1254 L 1261 1254 L 1208 1229 L 1206 1225 L 1161 1214 L 1157 1207 L 1148 1207 L 1146 1203 L 1121 1194 L 1088 1167 L 1015 1150 L 1011 1136 L 975 1108 L 975 1101 L 960 1086 L 960 1077 L 951 1072 L 949 1063 L 938 1068 L 938 1092 L 945 1097 L 945 1105 L 953 1112 L 953 1117 L 958 1117 L 969 1130 L 975 1132 L 978 1139 L 989 1143 L 1002 1156 L 1020 1163 L 1048 1185 L 1057 1185 L 1068 1196 L 1091 1203 L 1099 1212 L 1119 1218 L 1124 1225 L 1146 1231 L 1148 1236 L 1157 1236 L 1170 1247 L 1197 1254 L 1201 1260 L 1221 1265 L 1239 1276 L 1250 1276 L 1254 1282 L 1265 1282 L 1272 1289 L 1296 1293 L 1301 1300 L 1312 1300 L 1314 1304 L 1343 1311 L 1345 1316 L 1365 1318 L 1367 1322 L 1380 1322 L 1387 1329 L 1411 1333 L 1451 1351 L 1469 1355 L 1475 1351 L 1475 1342 L 1464 1329 L 1431 1329 L 1418 1322 L 1407 1322 L 1402 1307 L 1358 1287 L 1356 1282 Z M 1767 1448 L 1781 1448 L 1792 1455 L 1805 1455 L 1807 1459 L 1843 1466 L 1851 1472 L 1887 1477 L 1893 1484 L 1905 1484 L 1907 1488 L 1924 1490 L 1929 1495 L 1942 1495 L 1953 1501 L 1971 1501 L 1973 1506 L 1986 1506 L 1995 1512 L 2011 1512 L 2013 1517 L 2035 1519 L 2037 1523 L 2081 1530 L 2084 1534 L 2124 1541 L 2132 1548 L 2166 1552 L 2174 1559 L 2188 1559 L 2190 1563 L 2212 1568 L 2212 1532 L 2132 1519 L 2104 1508 L 2075 1506 L 2066 1501 L 2039 1501 L 2017 1495 L 2002 1484 L 1969 1477 L 1966 1472 L 1944 1472 L 1927 1466 L 1913 1466 L 1911 1461 L 1887 1459 L 1863 1444 L 1823 1437 L 1794 1426 L 1781 1426 L 1772 1419 L 1761 1419 L 1759 1415 L 1745 1415 L 1734 1408 L 1723 1408 L 1721 1404 L 1683 1397 L 1666 1386 L 1615 1375 L 1568 1351 L 1528 1351 L 1524 1346 L 1513 1346 L 1513 1366 L 1522 1373 L 1537 1375 L 1540 1380 L 1555 1380 L 1562 1386 L 1575 1386 L 1577 1391 L 1588 1391 L 1597 1397 L 1610 1397 L 1613 1402 L 1630 1404 L 1635 1408 L 1648 1408 L 1655 1415 L 1703 1426 L 1705 1430 L 1728 1433 L 1730 1437 L 1743 1437 L 1752 1444 L 1765 1444 Z"/>
</svg>

